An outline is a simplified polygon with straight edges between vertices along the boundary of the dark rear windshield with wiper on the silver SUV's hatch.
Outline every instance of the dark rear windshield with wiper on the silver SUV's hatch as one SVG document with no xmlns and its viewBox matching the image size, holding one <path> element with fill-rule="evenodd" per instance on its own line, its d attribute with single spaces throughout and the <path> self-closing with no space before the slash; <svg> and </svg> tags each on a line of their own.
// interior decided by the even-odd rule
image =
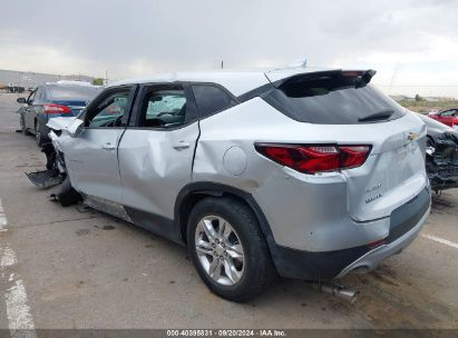
<svg viewBox="0 0 458 338">
<path fill-rule="evenodd" d="M 373 123 L 405 115 L 401 106 L 372 86 L 342 72 L 294 77 L 263 98 L 290 118 L 309 123 Z"/>
</svg>

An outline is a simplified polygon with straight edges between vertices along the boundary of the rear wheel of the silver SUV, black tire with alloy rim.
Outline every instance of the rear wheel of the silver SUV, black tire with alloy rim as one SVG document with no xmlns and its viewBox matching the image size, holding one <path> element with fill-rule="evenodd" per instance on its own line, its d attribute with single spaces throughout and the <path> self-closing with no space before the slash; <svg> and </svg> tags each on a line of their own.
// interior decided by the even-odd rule
<svg viewBox="0 0 458 338">
<path fill-rule="evenodd" d="M 203 230 L 203 220 L 214 227 L 211 233 L 217 236 L 213 240 L 207 237 L 208 227 L 205 227 L 206 231 Z M 227 233 L 230 228 L 233 230 L 224 241 L 221 241 L 224 233 L 215 233 L 221 227 Z M 187 243 L 202 280 L 222 298 L 237 302 L 249 301 L 263 292 L 276 276 L 266 239 L 255 215 L 237 199 L 205 198 L 197 202 L 188 218 Z M 218 261 L 222 261 L 222 266 L 211 277 L 209 270 L 215 261 L 215 266 Z"/>
</svg>

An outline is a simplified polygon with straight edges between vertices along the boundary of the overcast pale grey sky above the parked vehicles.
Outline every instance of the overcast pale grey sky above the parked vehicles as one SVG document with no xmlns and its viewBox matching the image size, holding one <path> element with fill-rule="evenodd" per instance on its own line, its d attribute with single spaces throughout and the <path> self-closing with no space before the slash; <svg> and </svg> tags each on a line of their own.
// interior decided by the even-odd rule
<svg viewBox="0 0 458 338">
<path fill-rule="evenodd" d="M 458 98 L 457 13 L 457 0 L 0 0 L 0 69 L 123 79 L 306 59 Z"/>
</svg>

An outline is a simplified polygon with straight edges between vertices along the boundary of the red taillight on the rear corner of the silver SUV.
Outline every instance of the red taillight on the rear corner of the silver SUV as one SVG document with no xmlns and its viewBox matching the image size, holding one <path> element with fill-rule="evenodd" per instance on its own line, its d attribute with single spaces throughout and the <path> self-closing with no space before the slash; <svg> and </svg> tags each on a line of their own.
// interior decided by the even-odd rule
<svg viewBox="0 0 458 338">
<path fill-rule="evenodd" d="M 257 152 L 271 160 L 305 173 L 338 171 L 362 166 L 370 146 L 303 146 L 256 143 Z"/>
</svg>

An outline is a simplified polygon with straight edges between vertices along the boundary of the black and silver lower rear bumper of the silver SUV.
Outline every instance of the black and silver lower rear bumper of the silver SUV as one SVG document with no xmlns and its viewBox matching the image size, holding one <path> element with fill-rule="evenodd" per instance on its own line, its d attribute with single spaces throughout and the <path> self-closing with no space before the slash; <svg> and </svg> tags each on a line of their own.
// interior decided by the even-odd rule
<svg viewBox="0 0 458 338">
<path fill-rule="evenodd" d="M 275 246 L 272 258 L 279 274 L 306 280 L 340 278 L 353 270 L 370 271 L 388 257 L 408 247 L 421 230 L 430 212 L 431 198 L 423 189 L 409 202 L 393 210 L 390 232 L 376 248 L 360 246 L 337 251 L 302 251 Z"/>
</svg>

